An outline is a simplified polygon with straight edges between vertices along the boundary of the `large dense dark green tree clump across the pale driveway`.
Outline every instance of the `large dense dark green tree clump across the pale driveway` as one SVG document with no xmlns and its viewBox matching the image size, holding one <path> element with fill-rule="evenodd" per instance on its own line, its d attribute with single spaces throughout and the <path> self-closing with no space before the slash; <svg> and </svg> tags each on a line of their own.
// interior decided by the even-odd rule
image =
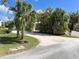
<svg viewBox="0 0 79 59">
<path fill-rule="evenodd" d="M 60 8 L 53 12 L 51 10 L 47 9 L 44 13 L 40 14 L 38 29 L 44 33 L 64 34 L 68 30 L 68 16 Z"/>
</svg>

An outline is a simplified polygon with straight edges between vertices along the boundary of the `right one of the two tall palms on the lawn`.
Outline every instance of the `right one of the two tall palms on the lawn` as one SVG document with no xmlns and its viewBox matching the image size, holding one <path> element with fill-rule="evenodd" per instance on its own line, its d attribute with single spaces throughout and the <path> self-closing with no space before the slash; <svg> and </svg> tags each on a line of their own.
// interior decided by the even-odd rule
<svg viewBox="0 0 79 59">
<path fill-rule="evenodd" d="M 30 13 L 31 11 L 31 5 L 30 4 L 27 4 L 25 2 L 23 2 L 21 4 L 21 39 L 23 39 L 24 37 L 24 30 L 25 30 L 25 21 L 26 21 L 26 18 L 28 19 L 28 16 L 27 14 Z"/>
</svg>

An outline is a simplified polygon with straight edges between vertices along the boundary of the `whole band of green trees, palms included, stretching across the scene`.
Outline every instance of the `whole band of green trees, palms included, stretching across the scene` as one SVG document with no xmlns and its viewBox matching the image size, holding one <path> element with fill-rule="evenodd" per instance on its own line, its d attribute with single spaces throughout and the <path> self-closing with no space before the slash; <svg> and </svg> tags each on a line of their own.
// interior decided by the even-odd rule
<svg viewBox="0 0 79 59">
<path fill-rule="evenodd" d="M 2 0 L 2 4 L 6 5 L 6 3 L 7 0 Z M 24 0 L 15 0 L 15 7 L 11 8 L 15 13 L 17 37 L 20 36 L 19 31 L 21 31 L 21 39 L 23 39 L 25 30 L 32 31 L 35 26 L 40 32 L 64 34 L 66 31 L 69 31 L 69 29 L 71 32 L 76 23 L 79 22 L 79 12 L 68 15 L 61 8 L 52 10 L 51 7 L 48 7 L 46 10 L 42 10 L 41 13 L 36 13 L 36 11 L 32 11 L 31 8 L 32 5 L 26 3 Z M 37 25 L 35 24 L 36 22 Z M 11 24 L 12 23 L 9 24 L 9 28 L 12 27 Z"/>
</svg>

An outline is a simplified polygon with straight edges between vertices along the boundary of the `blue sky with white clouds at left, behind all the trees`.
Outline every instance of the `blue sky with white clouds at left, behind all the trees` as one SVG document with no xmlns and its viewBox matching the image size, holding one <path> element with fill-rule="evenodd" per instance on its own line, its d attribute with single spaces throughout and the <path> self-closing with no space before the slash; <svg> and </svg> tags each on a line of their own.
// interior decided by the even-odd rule
<svg viewBox="0 0 79 59">
<path fill-rule="evenodd" d="M 26 2 L 32 4 L 34 10 L 46 9 L 49 6 L 53 9 L 62 8 L 67 12 L 79 10 L 79 0 L 26 0 Z M 9 10 L 9 7 L 14 7 L 14 5 L 14 0 L 8 0 L 7 7 L 0 4 L 0 19 L 8 19 L 8 17 L 11 17 L 13 12 Z"/>
</svg>

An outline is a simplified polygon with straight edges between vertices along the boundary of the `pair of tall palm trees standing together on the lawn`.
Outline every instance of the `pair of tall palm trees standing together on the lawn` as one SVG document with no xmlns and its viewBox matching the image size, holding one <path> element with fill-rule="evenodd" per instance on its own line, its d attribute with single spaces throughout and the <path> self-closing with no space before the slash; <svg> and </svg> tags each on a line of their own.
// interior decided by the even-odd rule
<svg viewBox="0 0 79 59">
<path fill-rule="evenodd" d="M 31 4 L 27 4 L 25 1 L 21 2 L 16 0 L 16 6 L 11 8 L 15 12 L 15 25 L 17 29 L 17 37 L 20 36 L 19 31 L 21 30 L 21 39 L 24 37 L 25 21 L 27 14 L 31 11 Z"/>
</svg>

